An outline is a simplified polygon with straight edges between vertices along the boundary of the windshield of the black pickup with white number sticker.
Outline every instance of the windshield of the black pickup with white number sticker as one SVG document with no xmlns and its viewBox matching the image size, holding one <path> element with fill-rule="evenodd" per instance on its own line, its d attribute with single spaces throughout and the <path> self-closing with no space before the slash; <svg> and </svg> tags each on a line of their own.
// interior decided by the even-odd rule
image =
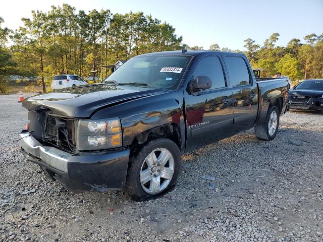
<svg viewBox="0 0 323 242">
<path fill-rule="evenodd" d="M 129 59 L 104 82 L 175 89 L 191 59 L 187 55 L 149 55 Z"/>
</svg>

